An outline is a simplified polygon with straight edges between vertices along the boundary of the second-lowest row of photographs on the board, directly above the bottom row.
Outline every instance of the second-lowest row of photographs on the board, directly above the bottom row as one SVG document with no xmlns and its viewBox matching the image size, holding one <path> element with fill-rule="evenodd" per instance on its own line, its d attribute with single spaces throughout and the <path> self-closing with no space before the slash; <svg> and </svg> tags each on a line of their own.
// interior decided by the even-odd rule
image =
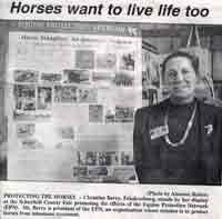
<svg viewBox="0 0 222 219">
<path fill-rule="evenodd" d="M 133 165 L 132 151 L 78 151 L 79 166 L 128 166 Z"/>
</svg>

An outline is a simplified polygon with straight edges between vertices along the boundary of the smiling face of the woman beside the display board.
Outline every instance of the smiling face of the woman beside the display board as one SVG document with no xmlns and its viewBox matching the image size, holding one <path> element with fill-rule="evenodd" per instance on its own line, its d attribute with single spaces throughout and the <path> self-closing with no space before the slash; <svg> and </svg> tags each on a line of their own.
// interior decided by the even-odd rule
<svg viewBox="0 0 222 219">
<path fill-rule="evenodd" d="M 193 97 L 196 83 L 195 70 L 185 57 L 174 57 L 165 63 L 165 82 L 170 96 L 176 99 Z"/>
</svg>

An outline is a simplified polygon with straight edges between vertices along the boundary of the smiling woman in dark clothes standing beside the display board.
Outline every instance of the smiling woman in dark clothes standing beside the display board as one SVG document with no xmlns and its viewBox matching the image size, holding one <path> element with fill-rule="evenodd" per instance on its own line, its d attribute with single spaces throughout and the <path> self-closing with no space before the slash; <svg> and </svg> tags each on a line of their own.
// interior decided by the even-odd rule
<svg viewBox="0 0 222 219">
<path fill-rule="evenodd" d="M 170 98 L 137 111 L 134 165 L 140 183 L 220 185 L 222 111 L 194 97 L 198 60 L 174 52 L 162 64 Z"/>
</svg>

